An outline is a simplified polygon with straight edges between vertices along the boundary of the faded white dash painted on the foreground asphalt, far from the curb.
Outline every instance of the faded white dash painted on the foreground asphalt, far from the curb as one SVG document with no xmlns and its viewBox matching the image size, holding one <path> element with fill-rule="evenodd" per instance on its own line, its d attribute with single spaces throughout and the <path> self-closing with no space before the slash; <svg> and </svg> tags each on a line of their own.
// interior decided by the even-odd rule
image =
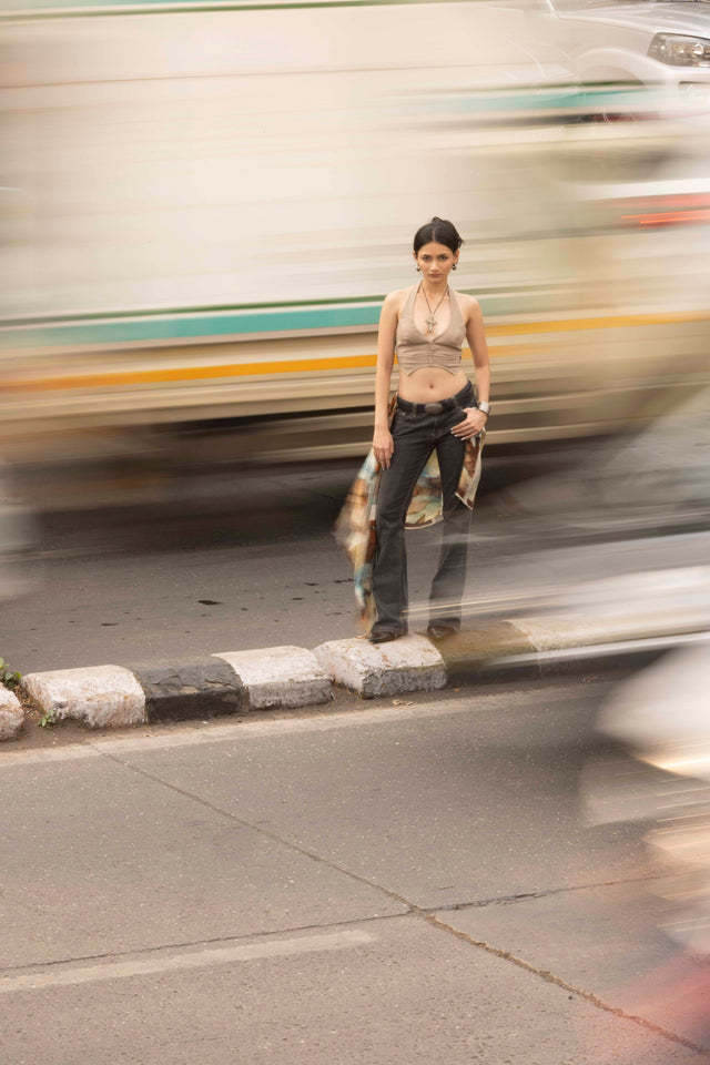
<svg viewBox="0 0 710 1065">
<path fill-rule="evenodd" d="M 103 980 L 121 980 L 126 976 L 149 976 L 156 973 L 175 973 L 190 968 L 206 968 L 226 965 L 230 962 L 251 962 L 262 957 L 285 957 L 290 954 L 316 954 L 325 951 L 345 951 L 374 943 L 369 932 L 348 929 L 327 934 L 296 936 L 290 940 L 260 940 L 256 943 L 239 943 L 232 946 L 212 947 L 206 951 L 183 951 L 180 954 L 160 954 L 95 965 L 78 965 L 71 962 L 52 965 L 40 972 L 0 977 L 0 994 L 18 991 L 41 991 L 47 987 L 67 987 L 77 984 L 93 984 Z"/>
</svg>

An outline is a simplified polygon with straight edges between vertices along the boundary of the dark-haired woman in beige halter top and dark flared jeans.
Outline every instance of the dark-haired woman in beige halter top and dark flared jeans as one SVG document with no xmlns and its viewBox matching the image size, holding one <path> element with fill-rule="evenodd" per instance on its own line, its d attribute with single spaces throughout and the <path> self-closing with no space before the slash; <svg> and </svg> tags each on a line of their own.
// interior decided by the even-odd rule
<svg viewBox="0 0 710 1065">
<path fill-rule="evenodd" d="M 373 592 L 377 618 L 372 643 L 407 631 L 407 560 L 404 521 L 415 484 L 433 448 L 442 476 L 444 536 L 430 595 L 427 633 L 442 639 L 460 626 L 470 511 L 456 490 L 466 442 L 488 420 L 490 365 L 483 315 L 473 296 L 449 288 L 463 241 L 455 226 L 434 217 L 414 237 L 420 281 L 390 292 L 379 320 L 373 450 L 382 466 L 377 498 Z M 462 368 L 464 337 L 470 347 L 476 393 Z M 395 351 L 399 387 L 392 425 L 388 399 Z"/>
</svg>

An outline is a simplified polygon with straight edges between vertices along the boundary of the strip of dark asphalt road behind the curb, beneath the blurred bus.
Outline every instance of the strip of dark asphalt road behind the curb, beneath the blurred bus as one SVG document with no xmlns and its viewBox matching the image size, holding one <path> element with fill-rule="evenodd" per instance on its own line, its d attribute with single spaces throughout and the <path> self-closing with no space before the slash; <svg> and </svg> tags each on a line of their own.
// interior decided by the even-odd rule
<svg viewBox="0 0 710 1065">
<path fill-rule="evenodd" d="M 550 466 L 531 458 L 530 469 Z M 701 565 L 707 535 L 682 541 L 595 538 L 519 513 L 506 487 L 525 463 L 489 459 L 474 514 L 467 615 L 571 582 L 645 568 Z M 331 536 L 349 465 L 212 476 L 153 507 L 49 510 L 23 562 L 0 559 L 0 655 L 21 673 L 104 663 L 180 661 L 227 650 L 315 647 L 353 636 L 349 564 Z M 557 481 L 551 481 L 552 490 Z M 415 630 L 426 628 L 439 529 L 408 534 Z"/>
</svg>

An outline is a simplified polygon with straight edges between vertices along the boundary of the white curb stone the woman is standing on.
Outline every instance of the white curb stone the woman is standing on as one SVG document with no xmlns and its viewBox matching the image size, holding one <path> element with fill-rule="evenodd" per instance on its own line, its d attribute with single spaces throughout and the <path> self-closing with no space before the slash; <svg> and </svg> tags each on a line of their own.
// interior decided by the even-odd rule
<svg viewBox="0 0 710 1065">
<path fill-rule="evenodd" d="M 446 683 L 444 659 L 423 636 L 402 636 L 390 643 L 332 640 L 316 647 L 314 655 L 336 683 L 365 699 L 432 691 Z"/>
</svg>

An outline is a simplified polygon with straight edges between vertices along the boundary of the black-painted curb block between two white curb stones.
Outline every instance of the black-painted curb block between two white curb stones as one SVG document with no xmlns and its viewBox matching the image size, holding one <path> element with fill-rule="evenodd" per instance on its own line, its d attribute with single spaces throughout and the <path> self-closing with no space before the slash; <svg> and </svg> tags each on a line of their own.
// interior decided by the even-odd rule
<svg viewBox="0 0 710 1065">
<path fill-rule="evenodd" d="M 128 666 L 145 692 L 149 721 L 187 721 L 248 709 L 248 692 L 221 658 Z"/>
</svg>

